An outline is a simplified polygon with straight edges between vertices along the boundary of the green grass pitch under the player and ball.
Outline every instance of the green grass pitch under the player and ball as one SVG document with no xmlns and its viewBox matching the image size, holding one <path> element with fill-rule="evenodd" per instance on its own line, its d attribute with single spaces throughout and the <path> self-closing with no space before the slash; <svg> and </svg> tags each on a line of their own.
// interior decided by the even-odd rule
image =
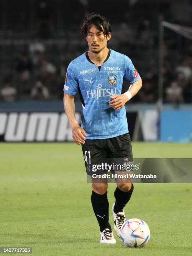
<svg viewBox="0 0 192 256">
<path fill-rule="evenodd" d="M 134 157 L 190 158 L 192 144 L 133 143 Z M 109 214 L 115 184 L 109 184 Z M 34 256 L 192 255 L 192 184 L 135 184 L 126 218 L 151 230 L 144 248 L 99 242 L 81 147 L 75 143 L 0 143 L 0 247 Z M 15 254 L 19 255 L 19 254 Z"/>
</svg>

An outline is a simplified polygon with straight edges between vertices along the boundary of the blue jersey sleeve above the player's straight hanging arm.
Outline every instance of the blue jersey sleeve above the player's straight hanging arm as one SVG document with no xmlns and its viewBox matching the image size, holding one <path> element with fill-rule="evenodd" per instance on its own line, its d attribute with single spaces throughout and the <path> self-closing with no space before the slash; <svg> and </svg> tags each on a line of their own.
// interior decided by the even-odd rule
<svg viewBox="0 0 192 256">
<path fill-rule="evenodd" d="M 63 87 L 63 92 L 70 95 L 76 95 L 78 90 L 78 81 L 76 79 L 75 69 L 72 62 L 68 65 L 66 81 Z"/>
</svg>

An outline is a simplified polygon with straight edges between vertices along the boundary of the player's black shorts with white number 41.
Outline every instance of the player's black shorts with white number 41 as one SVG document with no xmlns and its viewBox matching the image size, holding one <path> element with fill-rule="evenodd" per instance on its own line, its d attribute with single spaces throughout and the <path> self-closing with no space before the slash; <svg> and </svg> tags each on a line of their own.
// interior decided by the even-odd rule
<svg viewBox="0 0 192 256">
<path fill-rule="evenodd" d="M 93 171 L 94 165 L 101 165 L 102 163 L 118 163 L 132 162 L 133 154 L 131 147 L 131 139 L 129 133 L 106 139 L 86 139 L 82 145 L 83 157 L 88 175 L 103 174 L 107 172 L 106 169 L 101 168 Z M 112 172 L 112 170 L 111 170 Z"/>
</svg>

